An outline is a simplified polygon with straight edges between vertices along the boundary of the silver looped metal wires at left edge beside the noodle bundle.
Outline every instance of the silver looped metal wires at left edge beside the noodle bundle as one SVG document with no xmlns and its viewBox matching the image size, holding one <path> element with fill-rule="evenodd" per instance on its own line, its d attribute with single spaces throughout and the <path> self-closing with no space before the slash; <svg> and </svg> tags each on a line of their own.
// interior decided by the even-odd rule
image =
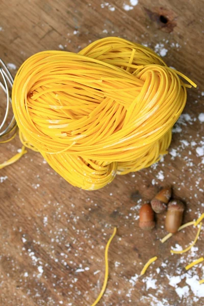
<svg viewBox="0 0 204 306">
<path fill-rule="evenodd" d="M 13 77 L 1 58 L 0 58 L 0 78 L 1 78 L 0 86 L 2 87 L 2 89 L 4 90 L 7 96 L 5 114 L 4 114 L 2 122 L 0 122 L 0 139 L 1 139 L 2 137 L 9 136 L 11 132 L 15 133 L 17 129 L 14 115 L 12 119 L 8 121 L 9 111 L 10 111 L 10 107 L 12 104 L 11 90 L 13 86 Z"/>
</svg>

